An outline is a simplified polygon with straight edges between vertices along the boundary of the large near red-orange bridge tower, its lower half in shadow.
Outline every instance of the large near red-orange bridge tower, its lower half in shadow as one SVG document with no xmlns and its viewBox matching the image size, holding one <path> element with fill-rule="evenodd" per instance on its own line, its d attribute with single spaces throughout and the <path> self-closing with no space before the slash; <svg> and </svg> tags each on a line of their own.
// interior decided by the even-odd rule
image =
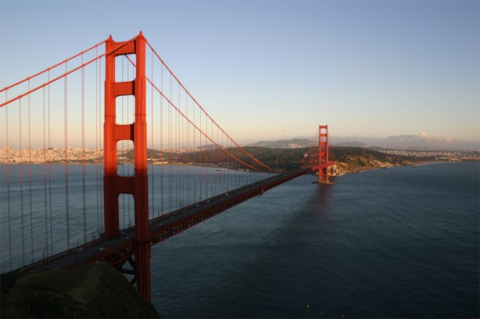
<svg viewBox="0 0 480 319">
<path fill-rule="evenodd" d="M 119 233 L 119 195 L 133 195 L 135 207 L 135 278 L 137 290 L 150 300 L 150 238 L 148 233 L 148 176 L 146 161 L 146 80 L 145 45 L 142 32 L 130 41 L 105 42 L 105 122 L 104 122 L 104 220 L 106 237 Z M 115 81 L 115 58 L 135 54 L 133 81 Z M 131 124 L 116 124 L 116 98 L 135 96 L 135 118 Z M 117 143 L 133 141 L 134 176 L 117 173 Z"/>
</svg>

